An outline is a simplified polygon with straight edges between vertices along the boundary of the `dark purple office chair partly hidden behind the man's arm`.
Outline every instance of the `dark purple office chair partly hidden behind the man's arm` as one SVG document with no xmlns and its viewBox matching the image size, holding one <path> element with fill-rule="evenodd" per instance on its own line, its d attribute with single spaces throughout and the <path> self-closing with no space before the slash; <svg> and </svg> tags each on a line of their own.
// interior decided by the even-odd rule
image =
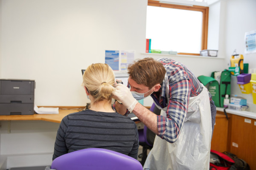
<svg viewBox="0 0 256 170">
<path fill-rule="evenodd" d="M 157 115 L 160 115 L 161 110 L 156 107 L 153 103 L 150 108 L 151 112 L 154 112 Z M 148 127 L 144 126 L 144 129 L 138 130 L 139 133 L 139 144 L 143 147 L 142 153 L 138 156 L 141 158 L 141 164 L 144 165 L 147 159 L 147 152 L 151 150 L 154 144 L 154 138 L 156 134 L 152 132 Z"/>
</svg>

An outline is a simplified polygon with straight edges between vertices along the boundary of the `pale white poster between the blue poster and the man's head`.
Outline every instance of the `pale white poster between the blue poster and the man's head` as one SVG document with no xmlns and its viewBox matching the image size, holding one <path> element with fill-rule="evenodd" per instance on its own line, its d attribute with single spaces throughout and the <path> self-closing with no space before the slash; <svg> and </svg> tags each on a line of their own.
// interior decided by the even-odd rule
<svg viewBox="0 0 256 170">
<path fill-rule="evenodd" d="M 134 51 L 121 51 L 121 71 L 127 71 L 127 67 L 134 61 Z"/>
</svg>

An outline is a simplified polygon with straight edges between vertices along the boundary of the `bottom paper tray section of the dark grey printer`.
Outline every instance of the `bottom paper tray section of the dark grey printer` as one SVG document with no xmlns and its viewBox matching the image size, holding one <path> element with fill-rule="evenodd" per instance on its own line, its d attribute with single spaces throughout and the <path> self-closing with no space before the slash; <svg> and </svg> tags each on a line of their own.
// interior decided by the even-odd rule
<svg viewBox="0 0 256 170">
<path fill-rule="evenodd" d="M 0 115 L 32 115 L 34 103 L 0 103 Z"/>
</svg>

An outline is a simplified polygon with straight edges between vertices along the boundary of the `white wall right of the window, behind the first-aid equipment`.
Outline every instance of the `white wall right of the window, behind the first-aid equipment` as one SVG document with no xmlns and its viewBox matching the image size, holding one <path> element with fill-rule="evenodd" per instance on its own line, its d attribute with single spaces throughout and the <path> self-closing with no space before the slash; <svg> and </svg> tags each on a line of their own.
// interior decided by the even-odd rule
<svg viewBox="0 0 256 170">
<path fill-rule="evenodd" d="M 226 8 L 226 65 L 230 64 L 230 57 L 234 49 L 238 54 L 244 55 L 244 63 L 249 63 L 249 68 L 256 68 L 256 53 L 245 54 L 244 34 L 247 31 L 256 30 L 256 0 L 227 0 Z M 243 96 L 247 99 L 251 112 L 256 112 L 256 105 L 253 104 L 252 94 L 242 94 L 237 79 L 232 76 L 231 94 Z"/>
</svg>

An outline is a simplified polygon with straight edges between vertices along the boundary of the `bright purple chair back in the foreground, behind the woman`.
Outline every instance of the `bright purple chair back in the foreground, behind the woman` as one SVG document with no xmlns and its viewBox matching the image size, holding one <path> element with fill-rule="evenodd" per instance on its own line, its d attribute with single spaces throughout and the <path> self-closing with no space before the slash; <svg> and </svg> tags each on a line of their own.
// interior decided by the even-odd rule
<svg viewBox="0 0 256 170">
<path fill-rule="evenodd" d="M 45 170 L 143 170 L 136 159 L 112 150 L 88 148 L 59 156 Z"/>
</svg>

